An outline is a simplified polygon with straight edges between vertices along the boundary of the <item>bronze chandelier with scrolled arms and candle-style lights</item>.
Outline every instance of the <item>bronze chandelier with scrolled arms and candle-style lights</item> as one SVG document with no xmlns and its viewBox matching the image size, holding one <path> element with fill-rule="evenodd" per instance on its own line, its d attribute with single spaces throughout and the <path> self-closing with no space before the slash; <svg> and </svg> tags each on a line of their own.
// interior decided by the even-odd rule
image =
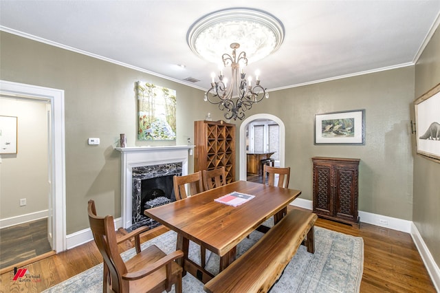
<svg viewBox="0 0 440 293">
<path fill-rule="evenodd" d="M 211 104 L 219 105 L 221 111 L 225 111 L 225 118 L 230 120 L 245 118 L 245 111 L 252 108 L 256 102 L 260 102 L 264 97 L 269 98 L 269 93 L 260 85 L 259 72 L 256 72 L 255 85 L 252 85 L 252 77 L 246 80 L 243 67 L 248 65 L 246 52 L 241 52 L 236 56 L 236 50 L 240 47 L 239 43 L 232 43 L 232 56 L 223 54 L 221 60 L 225 67 L 231 67 L 230 87 L 228 78 L 225 78 L 223 71 L 220 71 L 219 80 L 215 81 L 215 74 L 212 73 L 211 88 L 206 91 L 203 100 Z M 240 66 L 241 65 L 241 66 Z M 240 70 L 241 67 L 241 70 Z"/>
</svg>

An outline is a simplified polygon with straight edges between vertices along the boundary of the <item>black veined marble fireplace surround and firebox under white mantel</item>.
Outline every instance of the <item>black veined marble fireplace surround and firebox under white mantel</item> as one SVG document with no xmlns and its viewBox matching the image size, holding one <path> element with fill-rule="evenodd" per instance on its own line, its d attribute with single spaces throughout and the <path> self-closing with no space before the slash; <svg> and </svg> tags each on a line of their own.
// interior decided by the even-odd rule
<svg viewBox="0 0 440 293">
<path fill-rule="evenodd" d="M 175 202 L 173 176 L 182 175 L 182 163 L 137 166 L 132 169 L 132 226 L 134 230 L 141 226 L 154 228 L 159 224 L 144 215 L 144 206 L 157 197 L 166 197 Z"/>
</svg>

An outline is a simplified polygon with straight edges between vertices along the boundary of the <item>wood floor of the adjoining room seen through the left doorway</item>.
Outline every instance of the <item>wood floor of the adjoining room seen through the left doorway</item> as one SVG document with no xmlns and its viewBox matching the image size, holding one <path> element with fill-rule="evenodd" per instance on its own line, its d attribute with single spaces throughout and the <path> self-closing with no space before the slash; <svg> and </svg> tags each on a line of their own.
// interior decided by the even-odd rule
<svg viewBox="0 0 440 293">
<path fill-rule="evenodd" d="M 47 219 L 0 229 L 0 269 L 50 252 Z"/>
</svg>

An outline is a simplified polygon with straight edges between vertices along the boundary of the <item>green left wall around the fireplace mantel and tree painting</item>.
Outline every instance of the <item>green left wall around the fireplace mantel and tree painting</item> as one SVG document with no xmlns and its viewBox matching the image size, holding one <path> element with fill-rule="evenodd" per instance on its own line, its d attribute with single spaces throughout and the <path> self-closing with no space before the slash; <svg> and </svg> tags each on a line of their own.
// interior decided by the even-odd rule
<svg viewBox="0 0 440 293">
<path fill-rule="evenodd" d="M 120 217 L 121 154 L 113 149 L 119 133 L 126 133 L 127 146 L 166 144 L 135 141 L 135 81 L 177 91 L 177 144 L 188 137 L 194 142 L 193 121 L 208 112 L 199 89 L 6 32 L 0 32 L 0 45 L 2 80 L 65 90 L 67 235 L 89 226 L 89 199 L 100 215 Z M 100 145 L 87 145 L 87 138 L 100 138 Z"/>
</svg>

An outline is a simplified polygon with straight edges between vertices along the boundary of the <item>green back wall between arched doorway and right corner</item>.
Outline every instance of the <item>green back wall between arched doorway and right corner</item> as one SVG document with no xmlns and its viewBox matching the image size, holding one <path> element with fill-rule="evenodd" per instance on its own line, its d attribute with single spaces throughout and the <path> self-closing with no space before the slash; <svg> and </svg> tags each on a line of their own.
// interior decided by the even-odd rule
<svg viewBox="0 0 440 293">
<path fill-rule="evenodd" d="M 302 198 L 312 197 L 312 157 L 360 158 L 359 209 L 411 220 L 413 98 L 411 66 L 270 92 L 252 113 L 265 111 L 283 120 L 289 186 L 303 191 Z M 365 145 L 314 145 L 316 113 L 353 109 L 365 109 Z"/>
</svg>

